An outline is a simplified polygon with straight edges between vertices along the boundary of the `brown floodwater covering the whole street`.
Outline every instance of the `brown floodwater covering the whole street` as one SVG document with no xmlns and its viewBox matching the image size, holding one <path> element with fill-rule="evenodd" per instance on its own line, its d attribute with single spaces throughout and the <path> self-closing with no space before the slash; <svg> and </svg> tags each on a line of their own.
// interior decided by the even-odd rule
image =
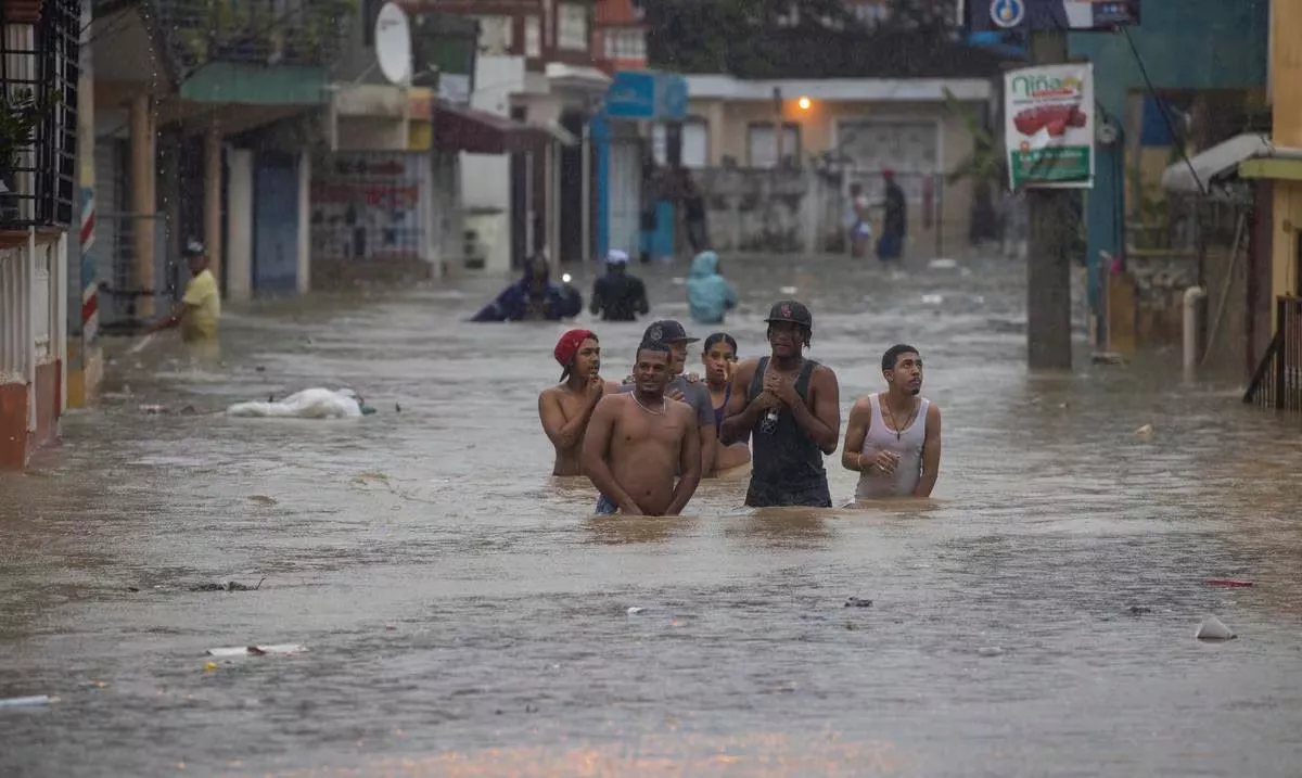
<svg viewBox="0 0 1302 778">
<path fill-rule="evenodd" d="M 842 437 L 922 350 L 928 506 L 706 481 L 681 519 L 590 518 L 536 414 L 568 325 L 461 323 L 500 280 L 229 310 L 221 368 L 109 342 L 100 407 L 0 476 L 0 697 L 60 697 L 0 709 L 0 774 L 1297 775 L 1299 425 L 1178 349 L 1029 376 L 1025 269 L 971 267 L 724 258 L 742 356 L 780 288 L 810 304 Z M 685 271 L 644 275 L 686 320 Z M 595 327 L 618 380 L 642 325 Z M 339 385 L 379 412 L 206 415 Z M 1195 640 L 1210 614 L 1240 639 Z"/>
</svg>

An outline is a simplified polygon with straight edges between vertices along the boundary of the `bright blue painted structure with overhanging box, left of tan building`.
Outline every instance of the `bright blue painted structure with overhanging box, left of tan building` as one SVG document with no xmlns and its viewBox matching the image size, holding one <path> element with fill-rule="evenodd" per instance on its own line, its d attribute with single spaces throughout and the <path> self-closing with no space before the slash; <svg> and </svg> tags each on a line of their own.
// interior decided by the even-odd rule
<svg viewBox="0 0 1302 778">
<path fill-rule="evenodd" d="M 620 70 L 611 81 L 602 113 L 589 127 L 596 156 L 596 256 L 612 248 L 637 256 L 673 254 L 673 204 L 656 207 L 656 230 L 641 234 L 643 124 L 682 122 L 687 79 L 673 73 Z M 647 241 L 647 238 L 650 241 Z"/>
</svg>

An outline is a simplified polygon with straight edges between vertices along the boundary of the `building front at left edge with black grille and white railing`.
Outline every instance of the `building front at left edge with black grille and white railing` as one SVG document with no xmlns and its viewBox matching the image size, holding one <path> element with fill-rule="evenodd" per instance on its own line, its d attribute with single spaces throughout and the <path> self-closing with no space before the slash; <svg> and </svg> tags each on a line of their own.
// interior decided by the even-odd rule
<svg viewBox="0 0 1302 778">
<path fill-rule="evenodd" d="M 0 468 L 52 442 L 66 407 L 81 40 L 79 0 L 0 5 Z"/>
</svg>

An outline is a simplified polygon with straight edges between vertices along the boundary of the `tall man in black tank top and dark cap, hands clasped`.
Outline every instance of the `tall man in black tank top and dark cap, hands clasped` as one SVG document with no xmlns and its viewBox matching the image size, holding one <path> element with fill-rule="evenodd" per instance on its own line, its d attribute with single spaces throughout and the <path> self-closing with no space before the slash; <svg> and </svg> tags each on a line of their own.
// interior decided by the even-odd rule
<svg viewBox="0 0 1302 778">
<path fill-rule="evenodd" d="M 831 507 L 823 455 L 841 437 L 836 373 L 805 358 L 814 317 L 803 304 L 779 301 L 764 321 L 772 355 L 737 367 L 719 437 L 729 445 L 750 435 L 746 505 Z"/>
</svg>

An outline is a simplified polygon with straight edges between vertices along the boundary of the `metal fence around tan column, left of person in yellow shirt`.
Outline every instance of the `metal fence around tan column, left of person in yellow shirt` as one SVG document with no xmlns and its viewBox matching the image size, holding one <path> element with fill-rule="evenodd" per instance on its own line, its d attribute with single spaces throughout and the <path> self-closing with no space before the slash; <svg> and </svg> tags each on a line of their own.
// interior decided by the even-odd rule
<svg viewBox="0 0 1302 778">
<path fill-rule="evenodd" d="M 139 262 L 141 230 L 154 233 L 148 267 Z M 187 271 L 168 254 L 168 224 L 161 213 L 95 215 L 100 332 L 135 332 L 181 299 Z"/>
</svg>

